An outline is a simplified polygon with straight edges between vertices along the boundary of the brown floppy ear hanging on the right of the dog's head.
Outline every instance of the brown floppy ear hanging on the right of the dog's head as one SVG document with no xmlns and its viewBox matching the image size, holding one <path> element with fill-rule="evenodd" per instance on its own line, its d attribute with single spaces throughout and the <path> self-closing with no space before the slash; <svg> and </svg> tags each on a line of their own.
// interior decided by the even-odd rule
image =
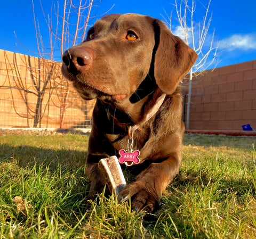
<svg viewBox="0 0 256 239">
<path fill-rule="evenodd" d="M 165 94 L 172 94 L 195 63 L 197 54 L 174 36 L 162 21 L 155 20 L 154 30 L 157 47 L 154 62 L 156 84 Z"/>
</svg>

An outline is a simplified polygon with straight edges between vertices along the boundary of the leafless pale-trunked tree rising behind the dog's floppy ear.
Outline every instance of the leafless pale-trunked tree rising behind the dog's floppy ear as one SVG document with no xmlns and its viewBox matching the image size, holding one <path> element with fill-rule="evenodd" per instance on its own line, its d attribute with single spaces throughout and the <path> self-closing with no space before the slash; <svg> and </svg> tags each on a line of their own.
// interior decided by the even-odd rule
<svg viewBox="0 0 256 239">
<path fill-rule="evenodd" d="M 195 22 L 196 0 L 175 0 L 174 9 L 180 26 L 180 37 L 198 54 L 198 60 L 189 72 L 189 89 L 187 103 L 186 128 L 189 129 L 189 113 L 191 102 L 191 86 L 195 84 L 198 74 L 202 74 L 204 70 L 210 67 L 218 57 L 218 44 L 214 42 L 214 31 L 210 36 L 209 29 L 212 21 L 212 13 L 210 13 L 211 0 L 206 6 L 202 4 L 205 11 L 202 15 L 202 23 Z M 170 28 L 172 31 L 172 14 L 169 18 Z M 177 30 L 177 29 L 176 29 Z M 195 79 L 194 79 L 195 78 Z"/>
</svg>

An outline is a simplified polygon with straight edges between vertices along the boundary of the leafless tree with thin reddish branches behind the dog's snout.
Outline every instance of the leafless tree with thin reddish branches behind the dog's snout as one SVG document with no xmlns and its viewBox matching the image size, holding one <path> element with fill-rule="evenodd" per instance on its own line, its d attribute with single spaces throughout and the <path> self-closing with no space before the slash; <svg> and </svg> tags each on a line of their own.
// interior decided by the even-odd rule
<svg viewBox="0 0 256 239">
<path fill-rule="evenodd" d="M 64 0 L 63 7 L 60 7 L 59 2 L 52 1 L 51 13 L 46 14 L 43 8 L 43 3 L 40 1 L 45 23 L 49 29 L 49 41 L 47 41 L 47 44 L 44 44 L 43 42 L 40 25 L 36 21 L 33 2 L 34 23 L 39 56 L 42 59 L 54 61 L 56 52 L 59 53 L 56 54 L 59 57 L 69 47 L 83 42 L 86 29 L 89 26 L 90 21 L 95 17 L 100 2 L 101 0 Z M 92 10 L 94 10 L 94 15 L 92 14 Z M 61 65 L 59 65 L 59 68 L 61 68 Z M 58 83 L 58 87 L 54 87 L 54 89 L 58 95 L 59 103 L 54 102 L 54 104 L 60 109 L 60 128 L 62 128 L 66 109 L 71 106 L 70 102 L 68 103 L 70 84 L 64 77 L 62 77 L 61 70 L 58 69 L 58 71 L 60 73 L 60 84 Z"/>
</svg>

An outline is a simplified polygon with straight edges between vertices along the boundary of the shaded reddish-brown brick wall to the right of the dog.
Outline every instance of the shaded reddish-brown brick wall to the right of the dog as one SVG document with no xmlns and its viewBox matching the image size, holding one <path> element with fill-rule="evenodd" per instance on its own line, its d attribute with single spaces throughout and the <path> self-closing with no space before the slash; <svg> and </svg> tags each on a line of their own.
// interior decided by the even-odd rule
<svg viewBox="0 0 256 239">
<path fill-rule="evenodd" d="M 256 129 L 256 60 L 208 70 L 195 82 L 189 129 Z"/>
</svg>

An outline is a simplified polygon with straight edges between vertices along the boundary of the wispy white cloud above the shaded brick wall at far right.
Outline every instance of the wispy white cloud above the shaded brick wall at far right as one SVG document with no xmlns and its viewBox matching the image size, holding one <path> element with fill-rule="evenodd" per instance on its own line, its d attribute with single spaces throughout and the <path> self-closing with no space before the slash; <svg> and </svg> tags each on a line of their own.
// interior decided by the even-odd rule
<svg viewBox="0 0 256 239">
<path fill-rule="evenodd" d="M 255 34 L 235 34 L 223 40 L 220 40 L 219 47 L 221 49 L 227 48 L 228 51 L 234 50 L 254 50 L 256 49 L 256 35 Z"/>
</svg>

